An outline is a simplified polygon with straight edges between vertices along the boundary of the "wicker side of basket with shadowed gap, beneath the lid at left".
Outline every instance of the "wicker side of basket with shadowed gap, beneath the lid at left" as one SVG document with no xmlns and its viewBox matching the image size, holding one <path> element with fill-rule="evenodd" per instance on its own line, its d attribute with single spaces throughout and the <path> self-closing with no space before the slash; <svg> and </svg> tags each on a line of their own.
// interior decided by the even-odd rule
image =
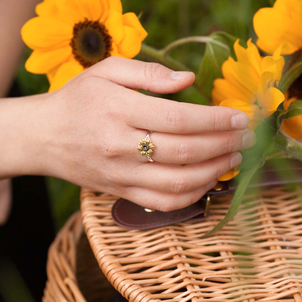
<svg viewBox="0 0 302 302">
<path fill-rule="evenodd" d="M 47 277 L 43 302 L 107 302 L 114 294 L 92 254 L 80 212 L 69 218 L 50 246 Z"/>
</svg>

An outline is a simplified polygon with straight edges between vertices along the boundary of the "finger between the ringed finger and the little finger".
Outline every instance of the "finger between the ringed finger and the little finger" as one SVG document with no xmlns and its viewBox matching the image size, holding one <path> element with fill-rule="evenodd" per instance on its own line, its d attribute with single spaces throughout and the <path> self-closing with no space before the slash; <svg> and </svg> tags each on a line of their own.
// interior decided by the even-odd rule
<svg viewBox="0 0 302 302">
<path fill-rule="evenodd" d="M 156 191 L 184 193 L 206 186 L 241 161 L 241 154 L 235 152 L 185 166 L 146 162 L 131 169 L 127 175 L 120 176 L 120 181 Z"/>
</svg>

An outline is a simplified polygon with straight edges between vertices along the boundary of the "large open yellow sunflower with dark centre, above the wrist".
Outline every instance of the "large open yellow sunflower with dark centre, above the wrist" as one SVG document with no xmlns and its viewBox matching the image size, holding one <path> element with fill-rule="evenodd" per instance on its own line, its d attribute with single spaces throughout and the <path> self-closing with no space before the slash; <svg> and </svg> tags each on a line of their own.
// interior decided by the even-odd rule
<svg viewBox="0 0 302 302">
<path fill-rule="evenodd" d="M 27 71 L 46 74 L 49 91 L 107 58 L 133 58 L 147 36 L 137 16 L 122 13 L 120 0 L 44 0 L 21 36 L 33 49 Z"/>
</svg>

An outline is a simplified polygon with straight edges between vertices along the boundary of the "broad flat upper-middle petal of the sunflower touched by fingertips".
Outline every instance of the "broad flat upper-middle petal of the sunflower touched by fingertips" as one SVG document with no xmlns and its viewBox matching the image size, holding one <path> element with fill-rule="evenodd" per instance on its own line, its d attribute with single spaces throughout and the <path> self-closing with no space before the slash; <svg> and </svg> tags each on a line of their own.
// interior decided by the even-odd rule
<svg viewBox="0 0 302 302">
<path fill-rule="evenodd" d="M 231 63 L 235 78 L 240 84 L 246 87 L 250 92 L 256 92 L 259 76 L 252 66 L 239 62 Z"/>
</svg>

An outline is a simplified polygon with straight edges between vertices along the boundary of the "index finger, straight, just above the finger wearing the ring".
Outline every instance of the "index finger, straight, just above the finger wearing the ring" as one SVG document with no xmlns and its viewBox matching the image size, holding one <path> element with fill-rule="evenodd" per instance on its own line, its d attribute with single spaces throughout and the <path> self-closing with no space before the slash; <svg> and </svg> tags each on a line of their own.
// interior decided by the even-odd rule
<svg viewBox="0 0 302 302">
<path fill-rule="evenodd" d="M 244 112 L 221 106 L 180 103 L 133 91 L 138 111 L 130 114 L 130 125 L 167 133 L 199 133 L 243 130 L 249 126 Z"/>
</svg>

